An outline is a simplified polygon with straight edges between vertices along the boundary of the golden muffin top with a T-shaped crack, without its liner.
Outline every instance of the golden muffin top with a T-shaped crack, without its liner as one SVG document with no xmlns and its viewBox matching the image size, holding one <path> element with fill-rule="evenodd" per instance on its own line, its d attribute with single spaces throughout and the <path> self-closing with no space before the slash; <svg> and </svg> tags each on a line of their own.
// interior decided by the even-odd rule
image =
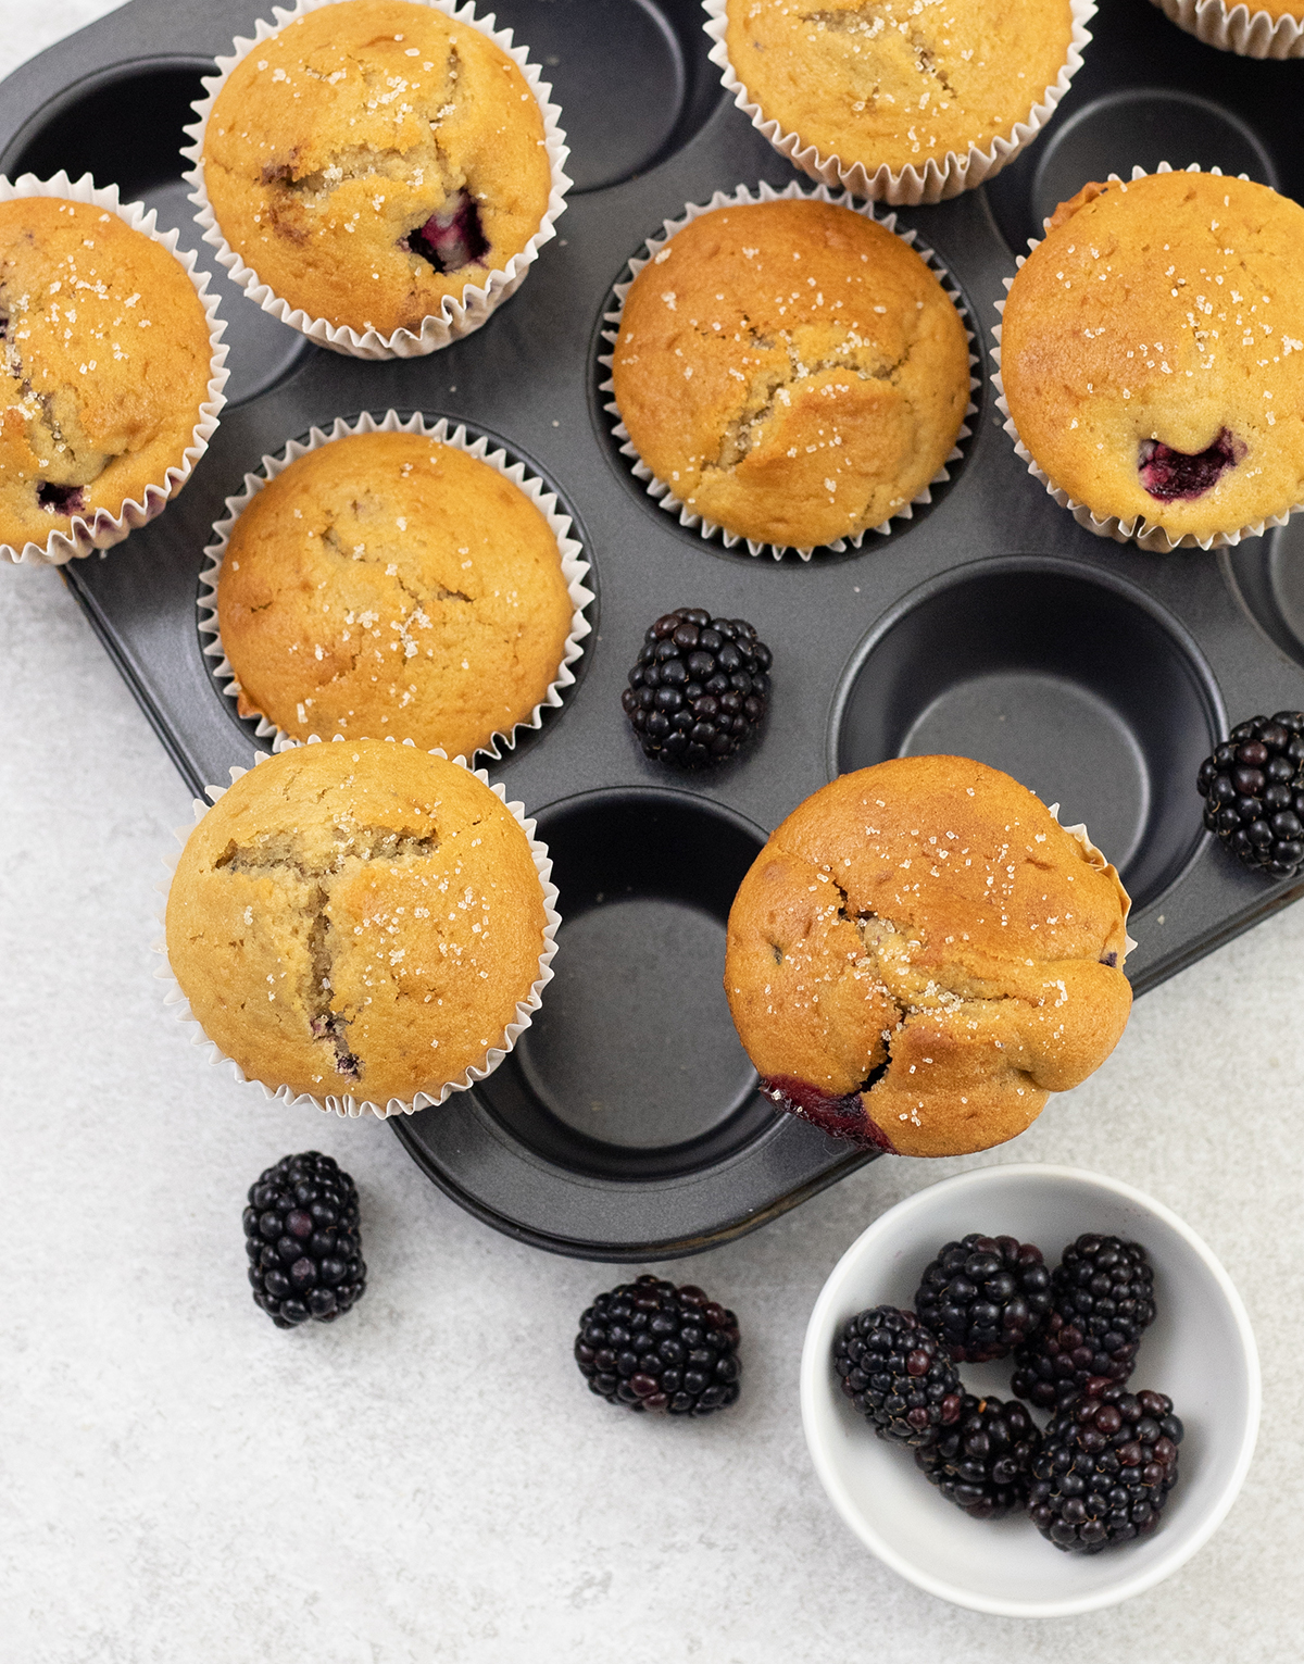
<svg viewBox="0 0 1304 1664">
<path fill-rule="evenodd" d="M 408 1103 L 506 1043 L 546 922 L 529 839 L 466 769 L 383 740 L 301 745 L 190 834 L 168 962 L 249 1078 Z"/>
</svg>

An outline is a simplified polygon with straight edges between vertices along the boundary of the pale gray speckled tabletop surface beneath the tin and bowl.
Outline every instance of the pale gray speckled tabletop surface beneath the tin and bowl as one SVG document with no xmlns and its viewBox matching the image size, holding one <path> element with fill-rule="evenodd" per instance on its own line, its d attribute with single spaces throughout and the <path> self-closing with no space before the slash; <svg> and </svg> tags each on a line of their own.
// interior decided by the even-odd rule
<svg viewBox="0 0 1304 1664">
<path fill-rule="evenodd" d="M 0 0 L 0 70 L 103 10 Z M 1282 1291 L 1297 1301 L 1304 1260 L 1304 910 L 1149 993 L 1016 1145 L 878 1161 L 684 1266 L 740 1313 L 743 1399 L 645 1423 L 569 1356 L 622 1273 L 494 1235 L 384 1127 L 264 1105 L 163 1013 L 153 885 L 190 802 L 53 572 L 0 571 L 0 664 L 5 1659 L 1299 1657 L 1304 1340 Z M 336 1328 L 281 1335 L 248 1298 L 238 1215 L 261 1166 L 309 1145 L 358 1178 L 371 1286 Z M 1259 1451 L 1221 1531 L 1083 1619 L 980 1617 L 901 1582 L 802 1441 L 802 1335 L 840 1251 L 901 1195 L 1005 1160 L 1166 1201 L 1231 1271 L 1262 1356 Z"/>
</svg>

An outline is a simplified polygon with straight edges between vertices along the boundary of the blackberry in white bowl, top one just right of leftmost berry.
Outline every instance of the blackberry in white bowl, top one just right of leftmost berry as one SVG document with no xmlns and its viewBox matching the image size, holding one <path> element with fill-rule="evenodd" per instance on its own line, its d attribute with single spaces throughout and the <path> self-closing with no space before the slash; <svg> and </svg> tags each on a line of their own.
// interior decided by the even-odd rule
<svg viewBox="0 0 1304 1664">
<path fill-rule="evenodd" d="M 946 1343 L 955 1363 L 1006 1358 L 1040 1328 L 1050 1305 L 1041 1250 L 1013 1236 L 946 1243 L 915 1295 L 920 1323 Z"/>
</svg>

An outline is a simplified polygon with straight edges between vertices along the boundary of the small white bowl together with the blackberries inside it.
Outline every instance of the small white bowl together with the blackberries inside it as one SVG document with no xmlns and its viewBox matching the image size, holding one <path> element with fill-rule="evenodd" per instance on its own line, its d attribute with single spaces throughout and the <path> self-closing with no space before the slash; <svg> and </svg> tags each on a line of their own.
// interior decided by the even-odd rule
<svg viewBox="0 0 1304 1664">
<path fill-rule="evenodd" d="M 1259 1361 L 1213 1251 L 1099 1173 L 986 1166 L 896 1203 L 820 1291 L 802 1421 L 847 1524 L 981 1612 L 1113 1606 L 1214 1533 Z"/>
</svg>

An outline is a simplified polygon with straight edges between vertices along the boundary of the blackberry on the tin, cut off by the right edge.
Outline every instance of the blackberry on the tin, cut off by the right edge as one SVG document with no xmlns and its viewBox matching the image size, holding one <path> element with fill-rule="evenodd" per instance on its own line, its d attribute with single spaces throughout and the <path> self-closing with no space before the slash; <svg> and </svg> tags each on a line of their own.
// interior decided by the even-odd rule
<svg viewBox="0 0 1304 1664">
<path fill-rule="evenodd" d="M 1199 765 L 1204 825 L 1256 872 L 1304 865 L 1304 711 L 1251 717 Z"/>
</svg>

